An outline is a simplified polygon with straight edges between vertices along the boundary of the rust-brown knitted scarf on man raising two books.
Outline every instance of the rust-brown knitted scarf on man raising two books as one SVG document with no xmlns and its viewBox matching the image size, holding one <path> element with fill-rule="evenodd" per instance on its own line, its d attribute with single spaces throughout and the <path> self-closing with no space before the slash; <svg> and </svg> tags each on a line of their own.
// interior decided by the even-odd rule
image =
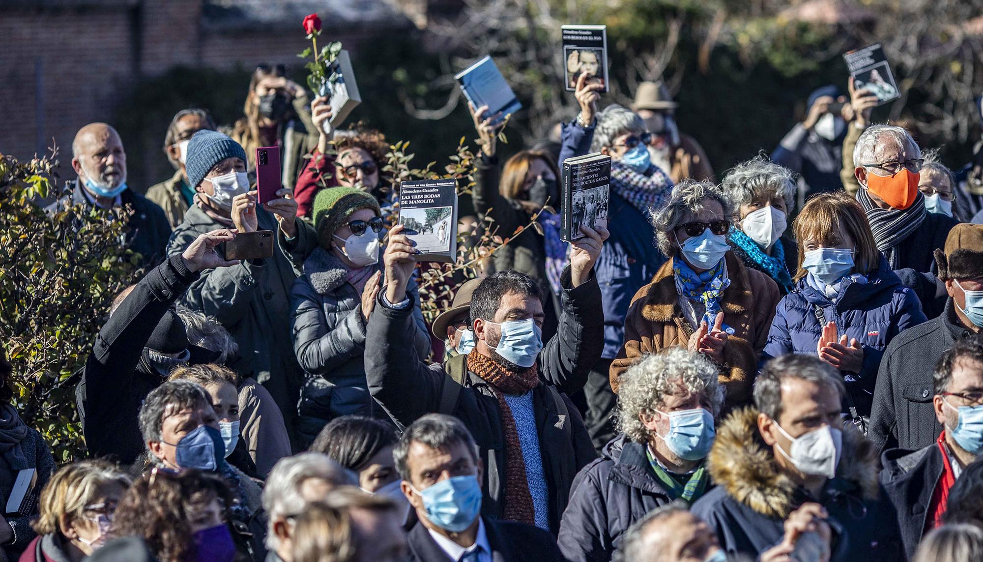
<svg viewBox="0 0 983 562">
<path fill-rule="evenodd" d="M 525 394 L 536 388 L 540 382 L 536 365 L 520 371 L 507 370 L 475 349 L 468 354 L 468 370 L 489 383 L 501 412 L 501 426 L 505 432 L 505 502 L 502 519 L 536 525 L 536 511 L 533 508 L 533 495 L 529 492 L 529 480 L 526 479 L 526 463 L 522 459 L 519 432 L 515 428 L 512 411 L 502 394 Z"/>
</svg>

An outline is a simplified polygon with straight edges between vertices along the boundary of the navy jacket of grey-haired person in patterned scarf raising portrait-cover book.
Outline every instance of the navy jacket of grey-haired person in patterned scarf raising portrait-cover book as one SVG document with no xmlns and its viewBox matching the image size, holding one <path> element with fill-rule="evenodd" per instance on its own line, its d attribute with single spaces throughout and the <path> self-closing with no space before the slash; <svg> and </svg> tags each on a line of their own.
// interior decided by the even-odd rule
<svg viewBox="0 0 983 562">
<path fill-rule="evenodd" d="M 587 154 L 594 139 L 594 127 L 581 127 L 576 120 L 562 125 L 559 168 L 563 160 Z M 671 190 L 672 185 L 666 187 Z M 605 310 L 604 359 L 614 359 L 624 343 L 624 318 L 631 299 L 639 289 L 652 282 L 665 263 L 653 239 L 648 213 L 635 208 L 612 190 L 607 210 L 609 236 L 594 265 L 601 286 L 601 301 Z"/>
</svg>

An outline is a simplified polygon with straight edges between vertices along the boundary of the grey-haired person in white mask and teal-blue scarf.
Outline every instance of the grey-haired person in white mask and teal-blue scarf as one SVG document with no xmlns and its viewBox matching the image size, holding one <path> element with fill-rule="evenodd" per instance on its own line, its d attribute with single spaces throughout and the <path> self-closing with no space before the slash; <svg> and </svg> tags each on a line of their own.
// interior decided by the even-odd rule
<svg viewBox="0 0 983 562">
<path fill-rule="evenodd" d="M 788 168 L 757 156 L 723 176 L 721 190 L 737 209 L 727 242 L 734 255 L 751 269 L 765 273 L 782 295 L 794 287 L 798 246 L 787 234 L 795 201 L 795 180 Z"/>
</svg>

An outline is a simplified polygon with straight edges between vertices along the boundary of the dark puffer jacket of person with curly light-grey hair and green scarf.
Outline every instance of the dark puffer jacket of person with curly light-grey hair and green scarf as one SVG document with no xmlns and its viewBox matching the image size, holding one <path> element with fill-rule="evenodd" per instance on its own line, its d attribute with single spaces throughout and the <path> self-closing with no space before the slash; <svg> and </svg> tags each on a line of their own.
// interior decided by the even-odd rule
<svg viewBox="0 0 983 562">
<path fill-rule="evenodd" d="M 607 562 L 633 523 L 672 501 L 652 472 L 645 445 L 619 435 L 602 454 L 574 478 L 560 522 L 559 549 L 571 562 Z"/>
</svg>

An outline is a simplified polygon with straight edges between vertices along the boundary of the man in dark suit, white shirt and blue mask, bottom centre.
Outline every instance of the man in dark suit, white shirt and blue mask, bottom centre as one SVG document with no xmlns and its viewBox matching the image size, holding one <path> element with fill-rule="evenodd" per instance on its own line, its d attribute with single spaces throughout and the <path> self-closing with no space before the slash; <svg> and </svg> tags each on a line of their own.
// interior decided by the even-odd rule
<svg viewBox="0 0 983 562">
<path fill-rule="evenodd" d="M 430 414 L 410 424 L 393 451 L 417 521 L 406 536 L 412 561 L 563 560 L 551 534 L 488 517 L 479 445 L 457 418 Z"/>
</svg>

